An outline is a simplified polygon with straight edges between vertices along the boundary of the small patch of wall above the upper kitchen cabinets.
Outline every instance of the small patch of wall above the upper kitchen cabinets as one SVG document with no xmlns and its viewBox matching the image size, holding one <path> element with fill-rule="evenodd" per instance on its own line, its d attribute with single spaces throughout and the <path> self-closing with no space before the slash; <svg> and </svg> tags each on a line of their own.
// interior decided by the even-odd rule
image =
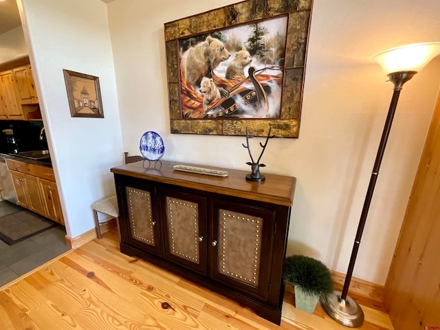
<svg viewBox="0 0 440 330">
<path fill-rule="evenodd" d="M 23 28 L 17 26 L 0 34 L 0 64 L 28 55 Z"/>
</svg>

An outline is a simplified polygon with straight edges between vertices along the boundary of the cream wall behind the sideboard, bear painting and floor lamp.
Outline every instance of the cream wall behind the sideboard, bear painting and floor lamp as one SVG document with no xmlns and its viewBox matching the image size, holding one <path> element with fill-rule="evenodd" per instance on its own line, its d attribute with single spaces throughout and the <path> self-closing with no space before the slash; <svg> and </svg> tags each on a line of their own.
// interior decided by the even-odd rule
<svg viewBox="0 0 440 330">
<path fill-rule="evenodd" d="M 163 24 L 233 0 L 116 0 L 109 25 L 125 151 L 142 133 L 164 138 L 164 159 L 249 170 L 243 137 L 170 134 Z M 437 0 L 315 0 L 300 135 L 270 140 L 267 173 L 298 179 L 288 254 L 347 272 L 393 85 L 371 57 L 439 41 Z M 440 58 L 401 93 L 354 276 L 384 284 L 440 85 Z"/>
</svg>

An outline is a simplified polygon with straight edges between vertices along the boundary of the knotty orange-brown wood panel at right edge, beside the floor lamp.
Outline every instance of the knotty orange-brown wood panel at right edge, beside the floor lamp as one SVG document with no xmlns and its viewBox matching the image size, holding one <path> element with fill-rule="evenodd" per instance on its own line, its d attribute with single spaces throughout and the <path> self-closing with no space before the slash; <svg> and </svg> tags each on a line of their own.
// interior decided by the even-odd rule
<svg viewBox="0 0 440 330">
<path fill-rule="evenodd" d="M 395 329 L 440 327 L 439 200 L 440 93 L 385 283 Z"/>
</svg>

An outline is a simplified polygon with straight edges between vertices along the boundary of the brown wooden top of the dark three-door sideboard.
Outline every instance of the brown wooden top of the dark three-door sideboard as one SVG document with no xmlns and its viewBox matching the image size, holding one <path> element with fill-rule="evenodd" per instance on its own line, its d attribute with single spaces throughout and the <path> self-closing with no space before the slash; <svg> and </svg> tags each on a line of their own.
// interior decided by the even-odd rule
<svg viewBox="0 0 440 330">
<path fill-rule="evenodd" d="M 283 206 L 292 206 L 296 185 L 295 177 L 284 175 L 274 175 L 263 173 L 266 177 L 263 182 L 246 181 L 245 175 L 250 173 L 245 170 L 231 170 L 228 168 L 218 168 L 214 166 L 201 166 L 196 164 L 186 164 L 177 162 L 162 161 L 148 167 L 148 161 L 135 162 L 123 166 L 111 168 L 111 172 L 129 177 L 137 177 L 165 184 L 175 184 L 186 188 L 194 188 L 209 192 L 216 192 L 223 195 L 231 195 L 256 201 L 264 201 Z M 173 166 L 189 165 L 217 170 L 227 170 L 228 177 L 214 177 L 197 173 L 182 172 L 175 170 Z"/>
</svg>

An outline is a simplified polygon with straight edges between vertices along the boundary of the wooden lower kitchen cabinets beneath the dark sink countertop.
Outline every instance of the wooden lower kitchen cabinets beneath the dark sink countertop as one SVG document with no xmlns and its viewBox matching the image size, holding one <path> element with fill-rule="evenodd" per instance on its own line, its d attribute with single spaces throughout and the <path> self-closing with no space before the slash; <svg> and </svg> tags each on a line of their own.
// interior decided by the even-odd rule
<svg viewBox="0 0 440 330">
<path fill-rule="evenodd" d="M 17 203 L 64 225 L 54 170 L 50 167 L 6 159 Z"/>
</svg>

